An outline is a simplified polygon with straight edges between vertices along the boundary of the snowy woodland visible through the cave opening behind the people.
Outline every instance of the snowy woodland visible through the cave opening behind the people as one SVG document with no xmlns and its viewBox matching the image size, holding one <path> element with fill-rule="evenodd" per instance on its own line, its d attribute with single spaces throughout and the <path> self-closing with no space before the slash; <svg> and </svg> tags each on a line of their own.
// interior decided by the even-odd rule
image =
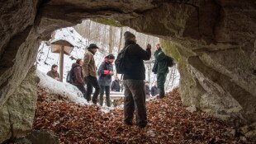
<svg viewBox="0 0 256 144">
<path fill-rule="evenodd" d="M 69 56 L 64 56 L 63 81 L 65 83 L 64 86 L 69 86 L 68 83 L 66 83 L 66 78 L 69 71 L 72 68 L 71 66 L 73 63 L 76 62 L 78 58 L 83 59 L 84 53 L 87 51 L 87 47 L 89 44 L 97 44 L 97 46 L 100 48 L 94 56 L 96 65 L 97 67 L 99 67 L 99 65 L 103 62 L 107 54 L 111 53 L 114 56 L 116 56 L 117 53 L 119 53 L 120 50 L 123 49 L 123 34 L 126 31 L 130 31 L 136 35 L 137 43 L 140 44 L 142 48 L 145 48 L 146 44 L 152 45 L 152 56 L 149 61 L 145 61 L 145 81 L 149 81 L 149 88 L 151 88 L 152 86 L 154 86 L 156 82 L 156 75 L 154 75 L 154 73 L 152 72 L 152 68 L 154 65 L 154 51 L 156 50 L 155 45 L 159 44 L 159 38 L 139 33 L 135 30 L 130 29 L 129 27 L 108 26 L 91 20 L 83 21 L 81 24 L 78 24 L 77 26 L 55 30 L 51 34 L 50 40 L 42 41 L 36 58 L 37 70 L 42 74 L 46 74 L 51 70 L 51 67 L 54 64 L 60 66 L 59 53 L 52 53 L 52 50 L 50 48 L 51 43 L 58 39 L 67 40 L 70 44 L 73 44 L 74 46 L 73 51 L 69 54 Z M 116 72 L 115 67 L 114 72 Z M 121 75 L 115 74 L 115 76 L 121 78 Z M 112 80 L 114 80 L 114 77 L 112 78 Z M 69 88 L 66 89 L 59 89 L 58 84 L 56 84 L 56 86 L 52 86 L 50 83 L 47 85 L 46 81 L 45 84 L 41 84 L 43 81 L 40 82 L 40 86 L 43 86 L 43 88 L 46 89 L 51 89 L 51 91 L 54 91 L 52 92 L 53 94 L 55 93 L 60 95 L 82 95 L 78 90 L 73 90 L 71 86 L 69 86 Z M 165 82 L 165 90 L 167 92 L 173 90 L 173 87 L 178 86 L 178 81 L 179 73 L 177 66 L 169 67 L 167 81 Z M 59 85 L 63 84 L 59 83 Z M 114 99 L 112 100 L 112 106 L 122 104 L 123 98 L 120 97 L 123 97 L 123 91 L 123 87 L 121 86 L 121 93 L 116 94 L 115 92 L 111 92 L 111 95 Z M 151 95 L 149 97 L 151 97 Z"/>
</svg>

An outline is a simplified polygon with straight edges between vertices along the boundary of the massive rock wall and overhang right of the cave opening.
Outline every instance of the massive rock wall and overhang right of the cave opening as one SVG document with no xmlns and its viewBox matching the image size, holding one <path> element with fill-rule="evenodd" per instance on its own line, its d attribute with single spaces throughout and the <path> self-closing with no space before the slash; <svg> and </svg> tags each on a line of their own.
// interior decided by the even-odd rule
<svg viewBox="0 0 256 144">
<path fill-rule="evenodd" d="M 184 105 L 253 123 L 255 7 L 253 1 L 168 2 L 121 23 L 165 39 L 164 51 L 178 61 Z"/>
</svg>

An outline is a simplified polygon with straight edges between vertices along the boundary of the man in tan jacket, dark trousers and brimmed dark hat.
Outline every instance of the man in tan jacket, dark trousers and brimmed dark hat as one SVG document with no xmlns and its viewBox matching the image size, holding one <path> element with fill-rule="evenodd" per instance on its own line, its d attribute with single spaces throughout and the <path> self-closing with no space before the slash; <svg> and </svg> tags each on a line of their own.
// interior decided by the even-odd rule
<svg viewBox="0 0 256 144">
<path fill-rule="evenodd" d="M 92 103 L 97 104 L 97 96 L 100 93 L 100 86 L 97 81 L 97 67 L 95 65 L 95 60 L 93 58 L 94 54 L 97 52 L 96 44 L 90 44 L 88 46 L 88 52 L 84 54 L 83 58 L 83 76 L 85 81 L 87 81 L 87 100 L 91 100 L 92 95 L 92 86 L 94 87 L 95 91 L 92 96 Z"/>
</svg>

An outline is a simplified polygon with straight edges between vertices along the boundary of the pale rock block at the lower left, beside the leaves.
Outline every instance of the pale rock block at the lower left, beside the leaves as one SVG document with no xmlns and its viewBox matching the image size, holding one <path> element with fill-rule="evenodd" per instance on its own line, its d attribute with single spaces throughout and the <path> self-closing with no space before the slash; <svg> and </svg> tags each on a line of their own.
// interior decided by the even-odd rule
<svg viewBox="0 0 256 144">
<path fill-rule="evenodd" d="M 36 88 L 39 82 L 35 77 L 35 67 L 27 75 L 21 86 L 10 96 L 0 109 L 0 143 L 8 138 L 24 136 L 30 132 L 36 110 Z"/>
</svg>

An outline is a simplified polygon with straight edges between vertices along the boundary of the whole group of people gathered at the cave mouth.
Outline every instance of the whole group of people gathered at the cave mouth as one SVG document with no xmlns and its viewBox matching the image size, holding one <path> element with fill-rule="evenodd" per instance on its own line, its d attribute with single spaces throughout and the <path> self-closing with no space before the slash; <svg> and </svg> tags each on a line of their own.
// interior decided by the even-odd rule
<svg viewBox="0 0 256 144">
<path fill-rule="evenodd" d="M 151 45 L 148 44 L 146 49 L 142 49 L 139 44 L 136 44 L 135 35 L 126 31 L 124 34 L 126 49 L 126 72 L 123 73 L 122 85 L 124 86 L 124 123 L 127 125 L 133 124 L 133 114 L 136 116 L 136 125 L 139 128 L 145 128 L 147 125 L 147 114 L 145 107 L 146 96 L 159 95 L 159 98 L 164 97 L 164 82 L 168 73 L 168 57 L 163 53 L 160 44 L 156 45 L 154 53 L 155 63 L 153 72 L 157 74 L 157 82 L 151 88 L 149 83 L 145 83 L 145 64 L 144 60 L 151 58 Z M 103 95 L 106 94 L 107 106 L 110 106 L 110 90 L 120 91 L 120 81 L 115 77 L 115 81 L 111 82 L 111 77 L 115 75 L 113 70 L 113 62 L 115 56 L 107 55 L 104 61 L 97 69 L 94 54 L 97 53 L 97 44 L 90 44 L 88 52 L 84 54 L 84 58 L 78 59 L 73 63 L 70 76 L 73 76 L 72 84 L 82 91 L 86 100 L 97 104 L 98 95 L 100 95 L 100 105 L 103 104 Z M 58 67 L 57 67 L 58 68 Z M 73 74 L 72 74 L 73 73 Z M 59 77 L 56 74 L 55 66 L 52 67 L 49 76 Z M 98 76 L 98 78 L 97 78 Z M 57 78 L 55 78 L 58 80 Z M 84 85 L 87 83 L 87 89 Z M 92 95 L 92 87 L 95 91 Z M 92 97 L 91 97 L 92 95 Z"/>
</svg>

